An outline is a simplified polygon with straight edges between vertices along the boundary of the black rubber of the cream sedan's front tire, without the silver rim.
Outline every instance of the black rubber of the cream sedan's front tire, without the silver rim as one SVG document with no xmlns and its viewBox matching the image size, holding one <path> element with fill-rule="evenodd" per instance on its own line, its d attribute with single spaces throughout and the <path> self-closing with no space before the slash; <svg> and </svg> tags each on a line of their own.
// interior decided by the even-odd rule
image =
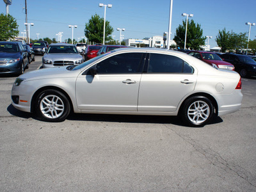
<svg viewBox="0 0 256 192">
<path fill-rule="evenodd" d="M 40 102 L 47 95 L 56 95 L 56 96 L 60 97 L 60 99 L 63 101 L 64 111 L 63 111 L 62 115 L 59 116 L 58 118 L 47 118 L 46 116 L 44 116 L 42 114 L 42 111 L 40 110 Z M 38 95 L 38 97 L 36 98 L 35 112 L 36 112 L 36 117 L 40 120 L 43 120 L 46 122 L 63 122 L 70 113 L 70 102 L 68 101 L 67 97 L 63 93 L 61 93 L 57 90 L 45 90 L 45 91 L 41 92 Z"/>
</svg>

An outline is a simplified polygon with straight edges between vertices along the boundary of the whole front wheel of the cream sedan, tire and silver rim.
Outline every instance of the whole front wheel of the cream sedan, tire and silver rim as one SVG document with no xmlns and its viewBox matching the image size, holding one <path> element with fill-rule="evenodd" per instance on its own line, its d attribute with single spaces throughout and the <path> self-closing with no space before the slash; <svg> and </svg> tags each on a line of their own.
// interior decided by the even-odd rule
<svg viewBox="0 0 256 192">
<path fill-rule="evenodd" d="M 46 122 L 63 122 L 70 113 L 67 97 L 56 90 L 45 90 L 36 98 L 36 116 Z"/>
</svg>

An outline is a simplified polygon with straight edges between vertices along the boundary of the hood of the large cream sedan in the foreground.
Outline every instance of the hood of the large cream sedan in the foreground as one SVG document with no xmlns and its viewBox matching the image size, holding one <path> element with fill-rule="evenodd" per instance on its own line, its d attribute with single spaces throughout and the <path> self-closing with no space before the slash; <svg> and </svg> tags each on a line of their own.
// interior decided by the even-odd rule
<svg viewBox="0 0 256 192">
<path fill-rule="evenodd" d="M 54 68 L 42 68 L 38 70 L 33 70 L 31 72 L 26 72 L 19 76 L 19 78 L 24 78 L 27 81 L 38 80 L 38 79 L 48 79 L 48 78 L 67 78 L 67 77 L 77 77 L 81 70 L 67 70 L 67 67 L 54 67 Z"/>
</svg>

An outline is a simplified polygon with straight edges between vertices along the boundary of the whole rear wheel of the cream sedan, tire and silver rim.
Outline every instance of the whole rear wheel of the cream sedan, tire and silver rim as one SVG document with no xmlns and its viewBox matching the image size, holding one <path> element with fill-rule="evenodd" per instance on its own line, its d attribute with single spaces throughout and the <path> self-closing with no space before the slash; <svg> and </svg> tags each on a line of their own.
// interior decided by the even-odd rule
<svg viewBox="0 0 256 192">
<path fill-rule="evenodd" d="M 204 96 L 194 96 L 184 101 L 179 113 L 184 124 L 190 127 L 204 127 L 214 114 L 211 100 Z"/>
</svg>

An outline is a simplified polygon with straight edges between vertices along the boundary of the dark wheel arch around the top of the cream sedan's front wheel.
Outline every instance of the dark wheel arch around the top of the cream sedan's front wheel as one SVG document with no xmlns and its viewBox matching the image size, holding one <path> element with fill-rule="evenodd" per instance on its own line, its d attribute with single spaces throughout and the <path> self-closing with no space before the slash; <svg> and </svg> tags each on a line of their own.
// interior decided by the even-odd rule
<svg viewBox="0 0 256 192">
<path fill-rule="evenodd" d="M 69 95 L 67 94 L 67 92 L 65 92 L 63 89 L 61 89 L 61 88 L 59 88 L 59 87 L 57 87 L 57 86 L 44 86 L 44 87 L 38 89 L 38 90 L 34 93 L 32 99 L 31 99 L 31 109 L 30 109 L 31 113 L 34 113 L 34 112 L 35 112 L 36 97 L 38 97 L 38 95 L 39 95 L 41 92 L 45 91 L 45 90 L 56 90 L 56 91 L 59 91 L 59 92 L 63 93 L 63 94 L 67 97 L 68 101 L 70 102 L 70 111 L 72 111 L 72 112 L 74 111 L 72 100 L 70 99 L 70 97 L 69 97 Z"/>
</svg>

